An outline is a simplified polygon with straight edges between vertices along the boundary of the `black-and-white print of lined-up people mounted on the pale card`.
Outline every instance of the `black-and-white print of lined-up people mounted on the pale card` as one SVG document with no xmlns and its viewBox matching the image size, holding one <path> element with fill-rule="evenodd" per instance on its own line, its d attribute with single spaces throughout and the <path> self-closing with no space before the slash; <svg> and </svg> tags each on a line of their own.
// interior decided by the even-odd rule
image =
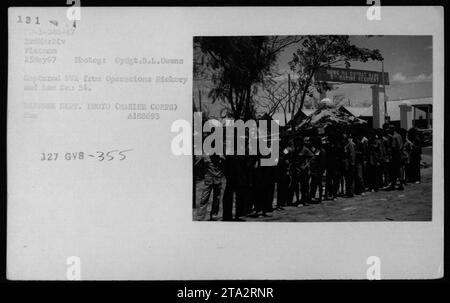
<svg viewBox="0 0 450 303">
<path fill-rule="evenodd" d="M 193 46 L 203 123 L 194 220 L 432 220 L 431 36 L 194 37 Z M 261 121 L 276 121 L 276 133 Z M 271 145 L 270 165 L 245 149 L 252 139 Z M 224 148 L 208 150 L 214 140 Z M 247 152 L 227 149 L 233 141 Z"/>
</svg>

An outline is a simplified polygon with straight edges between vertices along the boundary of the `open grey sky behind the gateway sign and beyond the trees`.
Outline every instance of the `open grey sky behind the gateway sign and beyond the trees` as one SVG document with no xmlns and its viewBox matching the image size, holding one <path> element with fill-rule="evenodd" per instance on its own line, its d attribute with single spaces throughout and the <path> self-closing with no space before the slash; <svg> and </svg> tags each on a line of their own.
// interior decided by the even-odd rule
<svg viewBox="0 0 450 303">
<path fill-rule="evenodd" d="M 351 36 L 359 47 L 380 50 L 384 70 L 389 73 L 386 87 L 390 100 L 432 96 L 432 36 Z M 278 70 L 289 71 L 288 62 L 295 46 L 286 48 L 278 58 Z M 381 71 L 381 62 L 352 62 L 351 68 Z M 329 92 L 327 97 L 343 95 L 353 106 L 371 104 L 371 89 L 367 84 L 343 84 Z"/>
</svg>

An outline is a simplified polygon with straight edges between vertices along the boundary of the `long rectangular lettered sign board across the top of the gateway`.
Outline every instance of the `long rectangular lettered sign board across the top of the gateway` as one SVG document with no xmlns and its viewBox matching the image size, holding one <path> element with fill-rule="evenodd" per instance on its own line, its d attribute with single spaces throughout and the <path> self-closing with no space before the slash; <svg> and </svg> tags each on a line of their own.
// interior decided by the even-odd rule
<svg viewBox="0 0 450 303">
<path fill-rule="evenodd" d="M 320 68 L 316 73 L 319 81 L 344 82 L 344 83 L 364 83 L 364 84 L 384 84 L 389 85 L 389 74 L 377 71 L 328 67 Z"/>
</svg>

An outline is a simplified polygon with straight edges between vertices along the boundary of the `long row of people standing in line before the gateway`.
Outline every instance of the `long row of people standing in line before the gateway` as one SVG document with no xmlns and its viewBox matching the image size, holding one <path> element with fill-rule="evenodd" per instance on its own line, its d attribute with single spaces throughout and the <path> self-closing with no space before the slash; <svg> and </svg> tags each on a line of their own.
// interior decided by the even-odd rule
<svg viewBox="0 0 450 303">
<path fill-rule="evenodd" d="M 195 163 L 203 162 L 205 168 L 196 219 L 219 219 L 224 181 L 223 221 L 270 216 L 275 196 L 275 208 L 282 209 L 367 191 L 403 190 L 407 183 L 420 183 L 421 154 L 416 128 L 406 131 L 385 124 L 380 129 L 286 138 L 275 166 L 262 166 L 255 156 L 205 155 Z"/>
</svg>

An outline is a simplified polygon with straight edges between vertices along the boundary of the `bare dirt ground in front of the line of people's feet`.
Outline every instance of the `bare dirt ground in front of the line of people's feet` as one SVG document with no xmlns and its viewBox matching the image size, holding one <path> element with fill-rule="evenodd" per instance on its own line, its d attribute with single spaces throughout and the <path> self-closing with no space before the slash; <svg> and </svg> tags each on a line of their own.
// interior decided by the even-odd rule
<svg viewBox="0 0 450 303">
<path fill-rule="evenodd" d="M 243 219 L 272 222 L 430 221 L 432 219 L 431 148 L 424 148 L 422 162 L 427 166 L 421 169 L 422 183 L 408 184 L 403 191 L 366 192 L 365 195 L 354 198 L 337 198 L 335 201 L 322 201 L 320 204 L 311 204 L 306 207 L 284 207 L 281 210 L 274 210 L 269 217 L 244 217 Z M 199 182 L 196 189 L 197 205 L 200 203 L 202 189 L 203 182 Z M 274 206 L 275 204 L 274 199 Z M 219 217 L 221 217 L 221 210 Z M 195 209 L 193 218 L 195 219 Z"/>
</svg>

